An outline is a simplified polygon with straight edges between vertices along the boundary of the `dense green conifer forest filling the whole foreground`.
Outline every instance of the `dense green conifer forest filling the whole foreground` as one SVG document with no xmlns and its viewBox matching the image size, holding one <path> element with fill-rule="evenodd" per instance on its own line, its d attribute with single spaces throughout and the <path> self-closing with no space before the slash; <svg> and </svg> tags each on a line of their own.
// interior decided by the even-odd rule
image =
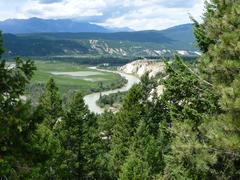
<svg viewBox="0 0 240 180">
<path fill-rule="evenodd" d="M 53 79 L 33 107 L 20 97 L 34 63 L 1 60 L 0 179 L 240 179 L 239 17 L 239 0 L 206 3 L 193 19 L 197 66 L 176 56 L 116 114 L 92 114 L 79 92 L 63 108 Z M 150 100 L 158 83 L 164 93 Z"/>
</svg>

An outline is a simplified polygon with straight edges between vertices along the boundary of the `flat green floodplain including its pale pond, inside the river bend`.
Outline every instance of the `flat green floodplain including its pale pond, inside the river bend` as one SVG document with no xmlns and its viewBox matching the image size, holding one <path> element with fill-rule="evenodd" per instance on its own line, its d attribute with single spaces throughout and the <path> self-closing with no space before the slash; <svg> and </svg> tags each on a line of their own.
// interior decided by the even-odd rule
<svg viewBox="0 0 240 180">
<path fill-rule="evenodd" d="M 37 71 L 26 87 L 26 95 L 36 104 L 46 82 L 53 78 L 66 101 L 76 91 L 83 95 L 124 86 L 126 80 L 119 74 L 100 72 L 85 65 L 58 61 L 35 61 Z"/>
</svg>

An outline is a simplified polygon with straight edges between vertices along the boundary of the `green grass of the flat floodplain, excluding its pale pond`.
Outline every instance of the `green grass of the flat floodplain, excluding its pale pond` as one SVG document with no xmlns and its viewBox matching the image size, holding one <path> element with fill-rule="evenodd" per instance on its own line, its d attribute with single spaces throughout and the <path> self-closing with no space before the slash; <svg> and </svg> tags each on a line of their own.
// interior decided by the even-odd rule
<svg viewBox="0 0 240 180">
<path fill-rule="evenodd" d="M 41 87 L 46 84 L 50 78 L 54 78 L 59 90 L 62 94 L 66 94 L 69 91 L 80 91 L 83 95 L 91 92 L 98 92 L 106 89 L 115 89 L 123 85 L 123 79 L 120 75 L 101 72 L 97 75 L 90 75 L 85 77 L 71 77 L 67 75 L 53 75 L 51 72 L 75 72 L 75 71 L 91 71 L 98 72 L 96 70 L 89 69 L 87 66 L 64 63 L 57 61 L 35 61 L 37 71 L 35 72 L 30 85 L 27 88 L 27 93 L 34 95 L 36 87 Z M 84 78 L 90 78 L 95 80 L 94 82 L 84 80 Z"/>
</svg>

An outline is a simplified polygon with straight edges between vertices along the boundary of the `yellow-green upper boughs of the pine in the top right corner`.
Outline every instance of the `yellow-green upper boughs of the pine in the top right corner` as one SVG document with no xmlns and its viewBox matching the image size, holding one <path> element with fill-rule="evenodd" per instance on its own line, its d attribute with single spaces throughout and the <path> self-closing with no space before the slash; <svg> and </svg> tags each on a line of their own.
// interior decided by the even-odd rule
<svg viewBox="0 0 240 180">
<path fill-rule="evenodd" d="M 230 85 L 239 74 L 239 2 L 210 1 L 204 18 L 203 38 L 214 43 L 201 57 L 201 70 L 208 81 Z"/>
</svg>

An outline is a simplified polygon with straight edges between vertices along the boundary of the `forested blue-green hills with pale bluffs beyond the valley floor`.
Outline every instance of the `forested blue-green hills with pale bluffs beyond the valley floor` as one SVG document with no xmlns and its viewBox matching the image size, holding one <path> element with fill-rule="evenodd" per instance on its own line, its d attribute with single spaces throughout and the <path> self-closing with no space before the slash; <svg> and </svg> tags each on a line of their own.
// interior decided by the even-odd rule
<svg viewBox="0 0 240 180">
<path fill-rule="evenodd" d="M 6 56 L 196 56 L 192 24 L 162 31 L 4 34 Z"/>
</svg>

